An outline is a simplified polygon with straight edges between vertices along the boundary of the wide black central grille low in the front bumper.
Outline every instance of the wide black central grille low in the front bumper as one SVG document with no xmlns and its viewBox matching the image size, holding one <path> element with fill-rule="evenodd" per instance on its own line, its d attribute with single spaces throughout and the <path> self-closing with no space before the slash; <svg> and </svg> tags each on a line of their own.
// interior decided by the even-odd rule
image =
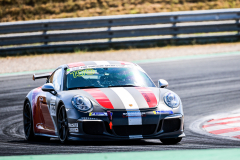
<svg viewBox="0 0 240 160">
<path fill-rule="evenodd" d="M 149 135 L 153 134 L 156 130 L 156 125 L 124 125 L 124 126 L 113 126 L 114 132 L 119 136 L 129 135 Z"/>
</svg>

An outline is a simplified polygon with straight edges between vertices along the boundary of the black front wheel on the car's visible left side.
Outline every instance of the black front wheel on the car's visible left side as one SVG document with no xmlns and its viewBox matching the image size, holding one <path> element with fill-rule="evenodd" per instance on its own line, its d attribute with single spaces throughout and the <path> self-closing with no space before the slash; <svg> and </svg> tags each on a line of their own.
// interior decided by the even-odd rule
<svg viewBox="0 0 240 160">
<path fill-rule="evenodd" d="M 64 105 L 58 110 L 58 135 L 61 143 L 68 140 L 68 120 Z"/>
</svg>

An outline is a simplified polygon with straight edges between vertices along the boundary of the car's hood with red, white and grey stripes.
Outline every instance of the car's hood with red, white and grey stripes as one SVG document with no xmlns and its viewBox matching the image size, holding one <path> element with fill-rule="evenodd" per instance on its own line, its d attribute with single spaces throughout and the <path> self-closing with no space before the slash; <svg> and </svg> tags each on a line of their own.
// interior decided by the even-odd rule
<svg viewBox="0 0 240 160">
<path fill-rule="evenodd" d="M 156 87 L 111 87 L 81 89 L 81 95 L 107 109 L 145 109 L 156 107 L 160 89 Z"/>
</svg>

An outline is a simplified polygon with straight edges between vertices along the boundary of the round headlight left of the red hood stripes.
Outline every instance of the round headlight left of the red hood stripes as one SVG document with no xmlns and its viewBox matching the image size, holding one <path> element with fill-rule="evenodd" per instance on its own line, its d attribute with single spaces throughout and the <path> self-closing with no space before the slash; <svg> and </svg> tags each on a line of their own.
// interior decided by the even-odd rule
<svg viewBox="0 0 240 160">
<path fill-rule="evenodd" d="M 72 98 L 72 104 L 74 107 L 81 111 L 88 111 L 92 109 L 92 103 L 84 96 L 76 95 Z"/>
</svg>

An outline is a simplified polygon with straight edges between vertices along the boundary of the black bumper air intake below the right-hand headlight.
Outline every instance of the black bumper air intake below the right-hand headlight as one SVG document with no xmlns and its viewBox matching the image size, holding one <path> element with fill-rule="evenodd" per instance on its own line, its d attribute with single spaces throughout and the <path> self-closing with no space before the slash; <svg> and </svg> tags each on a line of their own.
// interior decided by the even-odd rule
<svg viewBox="0 0 240 160">
<path fill-rule="evenodd" d="M 163 121 L 163 132 L 174 132 L 178 131 L 181 127 L 181 119 L 164 119 Z"/>
</svg>

